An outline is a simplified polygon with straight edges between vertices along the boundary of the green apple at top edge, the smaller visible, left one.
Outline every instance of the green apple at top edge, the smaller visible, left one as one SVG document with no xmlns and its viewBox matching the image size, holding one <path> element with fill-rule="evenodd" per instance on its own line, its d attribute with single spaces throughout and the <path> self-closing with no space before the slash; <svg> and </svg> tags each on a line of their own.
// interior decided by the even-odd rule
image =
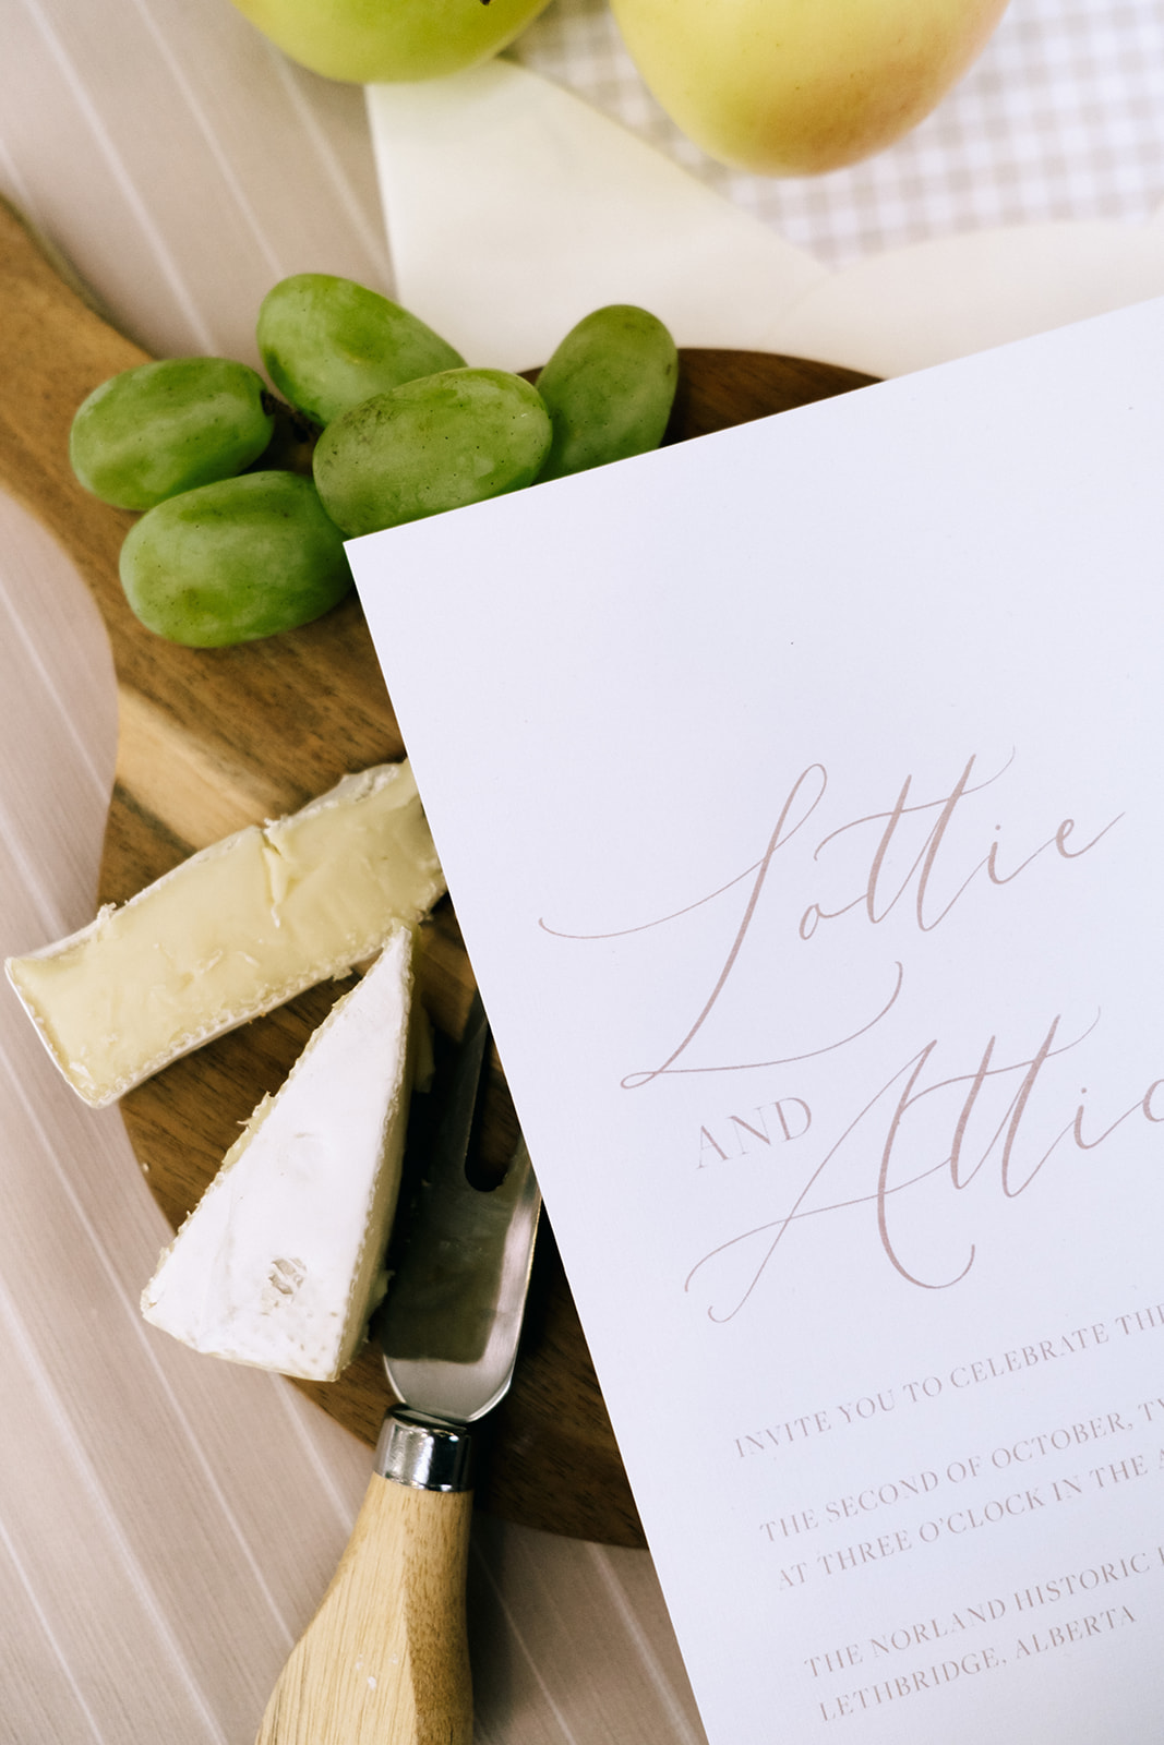
<svg viewBox="0 0 1164 1745">
<path fill-rule="evenodd" d="M 234 0 L 284 54 L 353 84 L 436 79 L 504 49 L 548 0 Z"/>
</svg>

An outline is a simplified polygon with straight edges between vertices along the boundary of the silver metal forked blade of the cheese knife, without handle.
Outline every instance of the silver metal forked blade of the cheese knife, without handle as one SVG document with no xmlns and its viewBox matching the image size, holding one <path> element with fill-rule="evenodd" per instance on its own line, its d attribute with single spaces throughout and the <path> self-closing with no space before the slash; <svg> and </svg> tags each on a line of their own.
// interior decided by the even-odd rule
<svg viewBox="0 0 1164 1745">
<path fill-rule="evenodd" d="M 393 1391 L 452 1424 L 483 1417 L 510 1386 L 541 1209 L 524 1139 L 499 1187 L 482 1190 L 466 1176 L 487 1054 L 476 996 L 379 1328 Z"/>
</svg>

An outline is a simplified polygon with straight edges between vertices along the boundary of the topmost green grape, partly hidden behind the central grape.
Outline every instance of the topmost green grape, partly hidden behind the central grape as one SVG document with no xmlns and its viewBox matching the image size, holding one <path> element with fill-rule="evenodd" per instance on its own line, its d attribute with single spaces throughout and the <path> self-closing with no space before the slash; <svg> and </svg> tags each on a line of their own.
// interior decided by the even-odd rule
<svg viewBox="0 0 1164 1745">
<path fill-rule="evenodd" d="M 417 375 L 464 363 L 400 304 L 328 272 L 297 272 L 267 291 L 258 351 L 279 393 L 316 424 Z"/>
</svg>

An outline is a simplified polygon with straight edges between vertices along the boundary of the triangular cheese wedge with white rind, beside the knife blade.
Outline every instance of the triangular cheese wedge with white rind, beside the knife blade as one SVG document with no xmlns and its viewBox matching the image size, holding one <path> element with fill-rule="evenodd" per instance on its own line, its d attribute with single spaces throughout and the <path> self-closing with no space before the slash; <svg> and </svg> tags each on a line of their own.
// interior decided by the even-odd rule
<svg viewBox="0 0 1164 1745">
<path fill-rule="evenodd" d="M 264 1098 L 141 1293 L 194 1351 L 326 1382 L 382 1295 L 412 1082 L 398 928 Z"/>
</svg>

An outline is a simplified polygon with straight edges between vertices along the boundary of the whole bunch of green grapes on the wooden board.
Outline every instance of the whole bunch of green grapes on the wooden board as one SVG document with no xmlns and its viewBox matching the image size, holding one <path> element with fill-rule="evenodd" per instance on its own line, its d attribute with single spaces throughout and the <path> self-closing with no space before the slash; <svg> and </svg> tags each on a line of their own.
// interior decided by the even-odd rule
<svg viewBox="0 0 1164 1745">
<path fill-rule="evenodd" d="M 276 284 L 257 337 L 284 400 L 243 363 L 175 358 L 103 382 L 70 433 L 80 483 L 143 511 L 120 553 L 133 611 L 190 647 L 330 611 L 346 537 L 658 447 L 675 394 L 670 333 L 625 304 L 579 321 L 536 387 L 330 274 Z"/>
</svg>

